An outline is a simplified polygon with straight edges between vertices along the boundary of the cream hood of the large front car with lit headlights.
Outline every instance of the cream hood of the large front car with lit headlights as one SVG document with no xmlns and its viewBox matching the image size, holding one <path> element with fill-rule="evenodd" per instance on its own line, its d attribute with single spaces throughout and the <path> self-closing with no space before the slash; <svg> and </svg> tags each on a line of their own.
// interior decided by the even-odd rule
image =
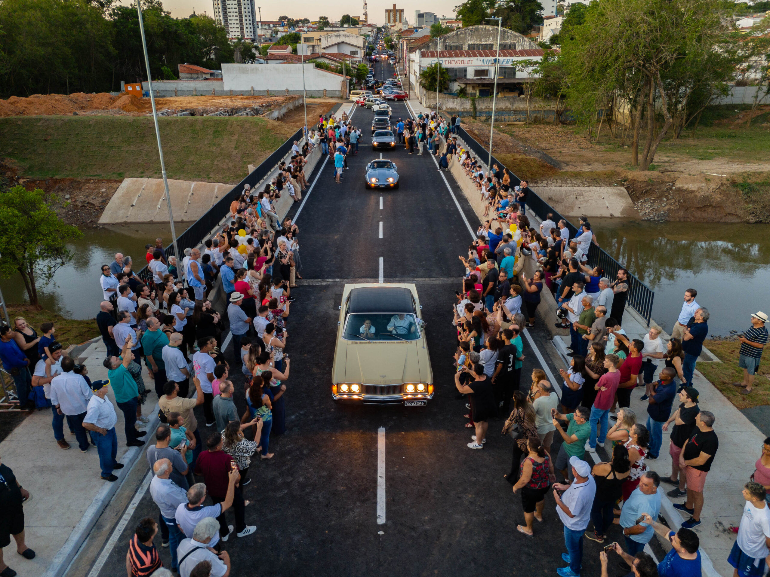
<svg viewBox="0 0 770 577">
<path fill-rule="evenodd" d="M 345 382 L 400 385 L 420 381 L 419 341 L 350 341 L 347 344 Z"/>
</svg>

